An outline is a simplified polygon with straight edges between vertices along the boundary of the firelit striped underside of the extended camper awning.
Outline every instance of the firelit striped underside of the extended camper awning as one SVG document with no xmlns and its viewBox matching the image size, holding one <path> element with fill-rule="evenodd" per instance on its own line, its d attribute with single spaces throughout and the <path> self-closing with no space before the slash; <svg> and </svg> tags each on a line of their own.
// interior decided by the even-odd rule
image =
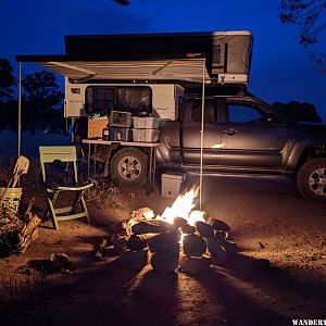
<svg viewBox="0 0 326 326">
<path fill-rule="evenodd" d="M 203 59 L 199 58 L 146 61 L 38 61 L 38 58 L 35 59 L 34 62 L 79 83 L 91 79 L 201 83 L 203 78 Z M 204 74 L 205 79 L 210 80 L 206 70 Z"/>
</svg>

